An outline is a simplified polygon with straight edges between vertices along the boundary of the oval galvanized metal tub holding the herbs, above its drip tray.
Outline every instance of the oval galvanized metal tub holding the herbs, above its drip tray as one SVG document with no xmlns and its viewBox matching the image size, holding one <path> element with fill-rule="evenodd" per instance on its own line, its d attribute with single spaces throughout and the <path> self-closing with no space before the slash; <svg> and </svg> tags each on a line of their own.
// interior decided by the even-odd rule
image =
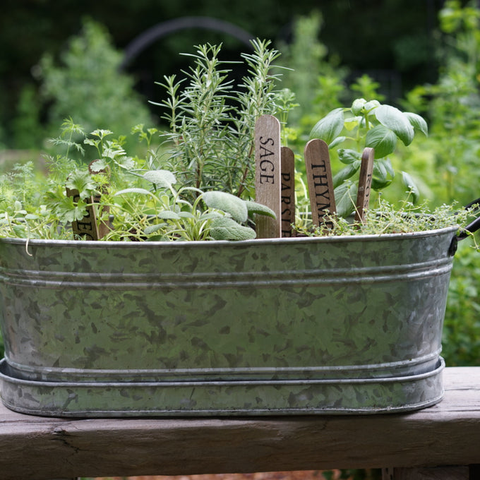
<svg viewBox="0 0 480 480">
<path fill-rule="evenodd" d="M 287 385 L 431 373 L 456 231 L 241 242 L 1 239 L 4 379 Z"/>
</svg>

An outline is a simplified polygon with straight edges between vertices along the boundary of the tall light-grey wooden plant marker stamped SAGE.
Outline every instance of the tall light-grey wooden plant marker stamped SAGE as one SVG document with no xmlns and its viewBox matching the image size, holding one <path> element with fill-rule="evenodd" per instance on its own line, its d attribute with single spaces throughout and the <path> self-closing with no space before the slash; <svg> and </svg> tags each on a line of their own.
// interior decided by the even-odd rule
<svg viewBox="0 0 480 480">
<path fill-rule="evenodd" d="M 256 216 L 259 239 L 282 236 L 280 121 L 262 115 L 255 125 L 255 191 L 256 201 L 271 208 L 277 218 Z"/>
</svg>

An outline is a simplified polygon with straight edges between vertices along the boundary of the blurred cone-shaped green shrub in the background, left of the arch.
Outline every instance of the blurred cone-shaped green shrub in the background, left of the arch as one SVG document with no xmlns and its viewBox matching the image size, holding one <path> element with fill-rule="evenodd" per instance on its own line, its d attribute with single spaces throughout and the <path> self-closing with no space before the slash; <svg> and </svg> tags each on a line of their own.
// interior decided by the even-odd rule
<svg viewBox="0 0 480 480">
<path fill-rule="evenodd" d="M 35 72 L 42 81 L 42 100 L 49 104 L 47 130 L 53 134 L 71 115 L 87 131 L 108 127 L 128 133 L 131 125 L 150 124 L 146 102 L 134 92 L 133 79 L 120 71 L 122 59 L 107 31 L 92 20 L 84 21 L 58 64 L 52 54 L 44 54 Z"/>
</svg>

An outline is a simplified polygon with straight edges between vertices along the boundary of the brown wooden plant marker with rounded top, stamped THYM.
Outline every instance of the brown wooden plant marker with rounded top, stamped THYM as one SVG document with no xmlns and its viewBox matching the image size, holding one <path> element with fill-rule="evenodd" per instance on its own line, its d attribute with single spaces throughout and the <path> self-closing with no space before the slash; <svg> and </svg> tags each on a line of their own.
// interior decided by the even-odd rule
<svg viewBox="0 0 480 480">
<path fill-rule="evenodd" d="M 319 138 L 310 140 L 305 145 L 305 163 L 312 222 L 314 225 L 325 224 L 330 228 L 332 222 L 325 222 L 325 215 L 335 213 L 337 207 L 328 145 Z"/>
</svg>

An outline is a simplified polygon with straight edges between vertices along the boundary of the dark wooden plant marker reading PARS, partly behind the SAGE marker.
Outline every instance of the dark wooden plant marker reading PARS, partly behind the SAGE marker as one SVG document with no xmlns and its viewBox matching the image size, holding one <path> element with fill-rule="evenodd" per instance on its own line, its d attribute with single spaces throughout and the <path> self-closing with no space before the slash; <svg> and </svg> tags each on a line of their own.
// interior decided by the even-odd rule
<svg viewBox="0 0 480 480">
<path fill-rule="evenodd" d="M 292 150 L 282 147 L 282 236 L 295 236 L 295 155 Z"/>
</svg>

